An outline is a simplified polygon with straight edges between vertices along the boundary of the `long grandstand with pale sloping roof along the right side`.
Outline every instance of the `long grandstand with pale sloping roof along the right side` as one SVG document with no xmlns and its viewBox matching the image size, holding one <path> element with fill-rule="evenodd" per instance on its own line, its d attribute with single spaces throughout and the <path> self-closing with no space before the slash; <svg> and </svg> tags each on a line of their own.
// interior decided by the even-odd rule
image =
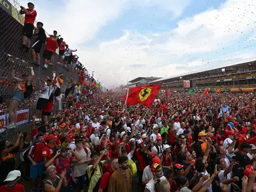
<svg viewBox="0 0 256 192">
<path fill-rule="evenodd" d="M 164 87 L 176 91 L 184 91 L 190 87 L 197 87 L 199 90 L 209 88 L 213 90 L 230 89 L 230 91 L 235 91 L 245 89 L 250 91 L 256 88 L 255 77 L 256 61 L 245 61 L 244 63 L 229 64 L 215 69 L 165 77 L 151 81 L 150 84 L 162 83 Z M 186 82 L 190 86 L 186 87 Z"/>
</svg>

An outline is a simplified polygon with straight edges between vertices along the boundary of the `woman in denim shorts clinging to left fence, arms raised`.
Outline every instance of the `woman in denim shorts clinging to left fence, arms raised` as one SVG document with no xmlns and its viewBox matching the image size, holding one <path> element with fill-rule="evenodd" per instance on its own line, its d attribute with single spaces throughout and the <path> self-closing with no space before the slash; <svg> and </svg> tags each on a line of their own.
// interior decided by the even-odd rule
<svg viewBox="0 0 256 192">
<path fill-rule="evenodd" d="M 31 76 L 28 77 L 27 75 L 23 74 L 21 76 L 22 79 L 15 77 L 14 71 L 11 73 L 11 77 L 19 83 L 17 83 L 17 86 L 13 91 L 13 100 L 7 109 L 10 115 L 10 123 L 6 126 L 7 129 L 16 127 L 15 123 L 17 122 L 18 117 L 17 109 L 19 107 L 19 102 L 23 101 L 24 98 L 29 97 L 33 91 L 32 80 L 35 76 L 35 73 L 33 71 L 33 67 L 29 67 L 29 69 L 31 70 Z"/>
</svg>

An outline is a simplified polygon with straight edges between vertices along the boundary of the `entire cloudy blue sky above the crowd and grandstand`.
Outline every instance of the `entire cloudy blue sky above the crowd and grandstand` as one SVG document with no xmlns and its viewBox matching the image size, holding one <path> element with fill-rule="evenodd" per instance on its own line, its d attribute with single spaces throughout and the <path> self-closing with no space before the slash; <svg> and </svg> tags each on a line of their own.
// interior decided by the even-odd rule
<svg viewBox="0 0 256 192">
<path fill-rule="evenodd" d="M 23 6 L 27 1 L 21 0 Z M 33 1 L 106 87 L 255 60 L 255 0 Z"/>
</svg>

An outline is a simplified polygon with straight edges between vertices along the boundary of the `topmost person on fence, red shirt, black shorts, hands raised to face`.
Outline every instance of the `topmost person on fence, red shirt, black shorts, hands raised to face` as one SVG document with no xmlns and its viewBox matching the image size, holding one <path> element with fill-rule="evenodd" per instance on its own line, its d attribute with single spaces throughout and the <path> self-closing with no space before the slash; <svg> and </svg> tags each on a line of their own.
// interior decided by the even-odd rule
<svg viewBox="0 0 256 192">
<path fill-rule="evenodd" d="M 35 17 L 37 17 L 37 11 L 35 11 L 35 5 L 33 3 L 27 3 L 27 7 L 29 8 L 26 9 L 25 7 L 21 6 L 19 14 L 23 15 L 25 13 L 21 50 L 29 53 L 30 39 L 33 36 L 34 22 Z"/>
</svg>

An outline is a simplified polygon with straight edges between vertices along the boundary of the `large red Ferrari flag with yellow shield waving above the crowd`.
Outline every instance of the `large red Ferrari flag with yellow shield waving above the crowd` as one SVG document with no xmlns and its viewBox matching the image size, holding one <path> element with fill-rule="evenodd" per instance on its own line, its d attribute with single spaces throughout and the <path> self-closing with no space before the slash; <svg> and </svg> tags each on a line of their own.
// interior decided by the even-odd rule
<svg viewBox="0 0 256 192">
<path fill-rule="evenodd" d="M 151 107 L 161 85 L 162 83 L 156 85 L 141 85 L 139 87 L 127 89 L 126 95 L 124 95 L 124 104 L 136 105 L 140 103 L 147 107 Z"/>
</svg>

